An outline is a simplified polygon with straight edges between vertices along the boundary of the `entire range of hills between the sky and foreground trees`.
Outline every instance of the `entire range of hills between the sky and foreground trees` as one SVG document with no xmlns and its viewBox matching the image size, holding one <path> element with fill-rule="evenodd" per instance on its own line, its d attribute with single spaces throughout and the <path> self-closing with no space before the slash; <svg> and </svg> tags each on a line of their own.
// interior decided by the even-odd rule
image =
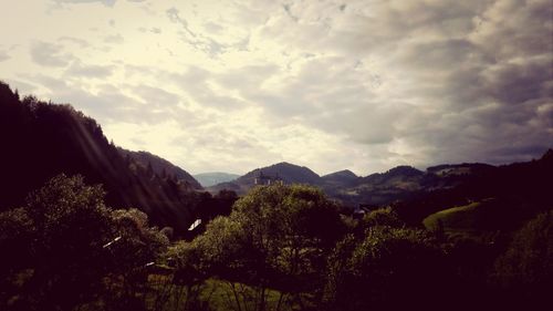
<svg viewBox="0 0 553 311">
<path fill-rule="evenodd" d="M 45 103 L 33 96 L 21 99 L 1 82 L 0 142 L 0 163 L 4 164 L 0 211 L 24 205 L 30 191 L 62 173 L 81 174 L 88 184 L 102 184 L 106 203 L 113 207 L 139 208 L 155 225 L 180 231 L 200 215 L 212 218 L 228 212 L 236 196 L 223 190 L 243 195 L 255 185 L 271 183 L 320 187 L 349 210 L 392 205 L 414 225 L 437 211 L 474 201 L 486 203 L 479 205 L 484 208 L 501 206 L 509 210 L 501 211 L 501 219 L 508 219 L 505 226 L 553 206 L 551 149 L 528 163 L 445 164 L 425 170 L 398 166 L 367 176 L 351 170 L 320 176 L 309 167 L 283 162 L 243 176 L 197 175 L 205 185 L 202 189 L 194 176 L 170 162 L 109 143 L 96 121 L 71 105 Z M 209 186 L 217 180 L 223 183 Z M 493 204 L 489 204 L 490 198 Z"/>
</svg>

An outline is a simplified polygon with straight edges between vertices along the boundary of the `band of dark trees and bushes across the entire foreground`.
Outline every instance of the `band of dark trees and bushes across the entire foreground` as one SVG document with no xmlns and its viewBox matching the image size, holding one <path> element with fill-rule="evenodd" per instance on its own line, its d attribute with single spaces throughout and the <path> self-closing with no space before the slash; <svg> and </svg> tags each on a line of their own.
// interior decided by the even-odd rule
<svg viewBox="0 0 553 311">
<path fill-rule="evenodd" d="M 503 242 L 354 219 L 309 186 L 265 186 L 192 241 L 171 241 L 101 186 L 60 175 L 0 214 L 2 310 L 530 308 L 553 286 L 553 221 Z"/>
</svg>

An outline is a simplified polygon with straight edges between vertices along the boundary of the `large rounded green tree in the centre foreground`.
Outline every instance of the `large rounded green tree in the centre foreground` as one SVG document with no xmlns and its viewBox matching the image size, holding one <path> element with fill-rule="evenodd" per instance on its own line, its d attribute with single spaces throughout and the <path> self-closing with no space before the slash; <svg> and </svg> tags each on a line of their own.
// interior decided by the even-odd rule
<svg viewBox="0 0 553 311">
<path fill-rule="evenodd" d="M 248 297 L 255 310 L 267 307 L 268 288 L 302 302 L 321 280 L 324 255 L 342 234 L 337 207 L 321 190 L 302 185 L 252 189 L 233 206 L 229 217 L 213 219 L 192 245 L 202 266 L 229 280 L 237 308 L 246 303 L 237 281 L 255 288 Z"/>
</svg>

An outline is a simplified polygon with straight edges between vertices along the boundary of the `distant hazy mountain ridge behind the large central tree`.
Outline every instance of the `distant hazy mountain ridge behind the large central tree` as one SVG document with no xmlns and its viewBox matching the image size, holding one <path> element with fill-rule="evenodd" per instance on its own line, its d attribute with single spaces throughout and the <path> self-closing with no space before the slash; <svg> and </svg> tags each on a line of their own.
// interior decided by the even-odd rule
<svg viewBox="0 0 553 311">
<path fill-rule="evenodd" d="M 378 206 L 408 199 L 420 191 L 452 188 L 462 184 L 467 176 L 493 168 L 494 166 L 479 163 L 439 165 L 426 170 L 401 165 L 385 173 L 375 173 L 365 177 L 359 177 L 347 169 L 321 177 L 307 167 L 283 162 L 255 168 L 236 180 L 221 183 L 207 189 L 212 193 L 229 189 L 246 194 L 255 186 L 255 178 L 263 174 L 278 177 L 284 184 L 309 184 L 321 187 L 330 197 L 351 207 L 359 204 Z"/>
</svg>

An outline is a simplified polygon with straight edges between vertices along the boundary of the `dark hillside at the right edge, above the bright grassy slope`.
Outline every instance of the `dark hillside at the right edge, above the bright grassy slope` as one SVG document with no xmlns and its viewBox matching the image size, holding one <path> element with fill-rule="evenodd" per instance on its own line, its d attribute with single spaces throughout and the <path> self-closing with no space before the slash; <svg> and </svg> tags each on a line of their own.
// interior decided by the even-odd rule
<svg viewBox="0 0 553 311">
<path fill-rule="evenodd" d="M 456 166 L 456 169 L 459 169 L 459 166 Z M 432 218 L 465 210 L 458 207 L 486 203 L 482 204 L 486 209 L 474 209 L 480 215 L 479 219 L 486 215 L 484 227 L 490 228 L 490 224 L 493 224 L 495 228 L 503 226 L 513 229 L 536 212 L 553 207 L 551 149 L 541 158 L 531 162 L 498 167 L 479 164 L 472 166 L 470 173 L 453 176 L 445 178 L 449 186 L 414 193 L 408 199 L 397 203 L 395 209 L 410 224 L 420 224 L 425 218 L 429 224 Z M 434 180 L 439 179 L 435 175 Z M 447 210 L 449 208 L 456 209 Z M 486 214 L 481 214 L 482 210 L 486 210 Z M 440 211 L 441 214 L 436 214 Z M 432 214 L 436 215 L 427 218 Z"/>
</svg>

